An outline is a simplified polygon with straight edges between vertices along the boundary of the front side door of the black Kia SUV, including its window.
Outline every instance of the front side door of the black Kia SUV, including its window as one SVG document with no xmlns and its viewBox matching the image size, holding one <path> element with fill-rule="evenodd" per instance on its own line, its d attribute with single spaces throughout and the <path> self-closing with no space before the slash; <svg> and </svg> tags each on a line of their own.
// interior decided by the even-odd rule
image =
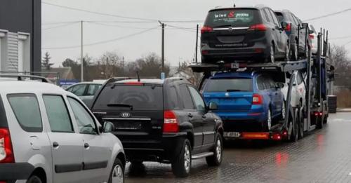
<svg viewBox="0 0 351 183">
<path fill-rule="evenodd" d="M 197 109 L 197 116 L 201 116 L 202 123 L 202 131 L 204 135 L 204 142 L 202 149 L 207 149 L 208 147 L 212 147 L 215 141 L 215 127 L 216 123 L 211 118 L 211 115 L 207 114 L 205 102 L 202 99 L 201 95 L 197 92 L 195 88 L 192 86 L 188 86 L 190 93 L 192 95 L 192 100 L 194 100 L 194 104 Z"/>
</svg>

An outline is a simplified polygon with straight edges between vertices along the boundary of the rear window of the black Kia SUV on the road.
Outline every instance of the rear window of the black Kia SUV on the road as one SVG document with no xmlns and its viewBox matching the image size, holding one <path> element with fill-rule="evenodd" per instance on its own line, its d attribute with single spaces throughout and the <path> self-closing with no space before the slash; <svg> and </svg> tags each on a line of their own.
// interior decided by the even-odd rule
<svg viewBox="0 0 351 183">
<path fill-rule="evenodd" d="M 93 109 L 161 111 L 164 109 L 163 96 L 161 86 L 106 86 L 96 100 Z"/>
</svg>

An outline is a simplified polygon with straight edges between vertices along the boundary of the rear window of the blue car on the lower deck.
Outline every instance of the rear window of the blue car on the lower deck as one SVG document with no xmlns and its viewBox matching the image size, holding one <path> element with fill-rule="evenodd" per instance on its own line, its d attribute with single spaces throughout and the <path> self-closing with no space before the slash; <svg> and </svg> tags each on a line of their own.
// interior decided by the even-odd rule
<svg viewBox="0 0 351 183">
<path fill-rule="evenodd" d="M 252 79 L 209 79 L 204 92 L 252 92 Z"/>
</svg>

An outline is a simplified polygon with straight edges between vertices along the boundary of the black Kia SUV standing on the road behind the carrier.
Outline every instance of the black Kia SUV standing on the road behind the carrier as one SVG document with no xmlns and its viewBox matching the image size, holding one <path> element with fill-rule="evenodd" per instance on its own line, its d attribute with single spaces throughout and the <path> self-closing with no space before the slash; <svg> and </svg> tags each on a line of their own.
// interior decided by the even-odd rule
<svg viewBox="0 0 351 183">
<path fill-rule="evenodd" d="M 93 101 L 100 123 L 114 123 L 128 161 L 171 163 L 178 177 L 189 175 L 192 159 L 220 165 L 223 122 L 183 79 L 112 81 Z"/>
</svg>

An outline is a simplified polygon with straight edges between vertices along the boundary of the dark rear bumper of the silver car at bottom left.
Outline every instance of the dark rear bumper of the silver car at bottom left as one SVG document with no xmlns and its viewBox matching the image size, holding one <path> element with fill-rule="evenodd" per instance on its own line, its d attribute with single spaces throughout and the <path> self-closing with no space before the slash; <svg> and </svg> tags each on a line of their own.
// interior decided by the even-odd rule
<svg viewBox="0 0 351 183">
<path fill-rule="evenodd" d="M 28 179 L 34 171 L 29 163 L 0 163 L 0 181 L 15 182 L 19 179 Z"/>
</svg>

